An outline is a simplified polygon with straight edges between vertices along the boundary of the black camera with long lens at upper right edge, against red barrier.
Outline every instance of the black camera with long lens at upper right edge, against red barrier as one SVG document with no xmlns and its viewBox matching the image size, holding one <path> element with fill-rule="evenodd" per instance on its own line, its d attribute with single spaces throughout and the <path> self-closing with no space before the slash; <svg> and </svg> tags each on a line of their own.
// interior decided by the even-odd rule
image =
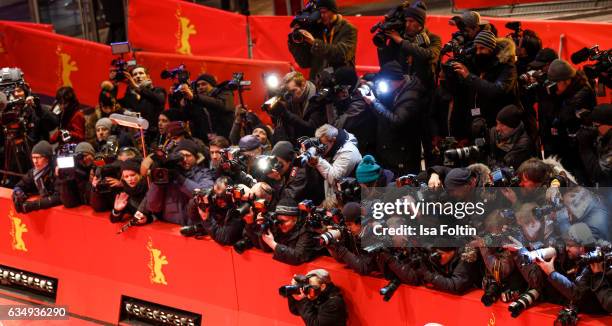
<svg viewBox="0 0 612 326">
<path fill-rule="evenodd" d="M 572 54 L 572 63 L 580 64 L 585 61 L 595 61 L 582 67 L 590 80 L 597 79 L 606 87 L 612 88 L 612 49 L 601 51 L 599 45 L 582 48 Z"/>
</svg>

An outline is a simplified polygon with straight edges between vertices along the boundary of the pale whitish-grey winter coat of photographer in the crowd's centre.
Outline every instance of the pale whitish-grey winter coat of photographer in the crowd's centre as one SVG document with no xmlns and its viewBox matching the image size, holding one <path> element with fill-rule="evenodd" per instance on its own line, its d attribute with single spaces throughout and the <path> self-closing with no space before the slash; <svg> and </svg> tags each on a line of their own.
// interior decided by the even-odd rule
<svg viewBox="0 0 612 326">
<path fill-rule="evenodd" d="M 329 160 L 329 161 L 328 161 Z M 325 179 L 325 197 L 335 197 L 336 182 L 353 174 L 357 164 L 361 162 L 361 153 L 357 149 L 355 136 L 341 129 L 336 142 L 326 158 L 319 158 L 317 170 Z"/>
</svg>

